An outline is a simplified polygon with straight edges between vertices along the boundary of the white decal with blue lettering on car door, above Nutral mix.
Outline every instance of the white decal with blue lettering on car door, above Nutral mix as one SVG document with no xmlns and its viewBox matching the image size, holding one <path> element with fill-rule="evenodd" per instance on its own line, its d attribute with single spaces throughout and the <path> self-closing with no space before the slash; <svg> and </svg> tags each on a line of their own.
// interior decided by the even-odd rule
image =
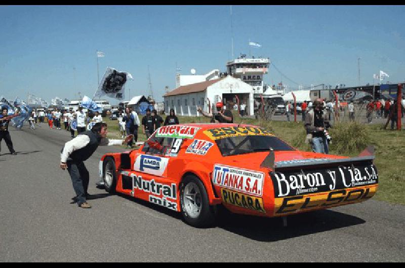
<svg viewBox="0 0 405 268">
<path fill-rule="evenodd" d="M 169 158 L 152 155 L 139 155 L 134 164 L 134 170 L 161 176 L 168 165 Z"/>
</svg>

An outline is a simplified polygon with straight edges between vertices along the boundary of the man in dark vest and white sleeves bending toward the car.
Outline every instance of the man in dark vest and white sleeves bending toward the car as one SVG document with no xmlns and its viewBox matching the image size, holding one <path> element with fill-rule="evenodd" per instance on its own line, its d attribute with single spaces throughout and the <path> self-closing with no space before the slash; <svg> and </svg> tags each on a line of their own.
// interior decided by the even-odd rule
<svg viewBox="0 0 405 268">
<path fill-rule="evenodd" d="M 76 193 L 72 199 L 79 207 L 91 208 L 86 201 L 89 197 L 87 189 L 90 177 L 84 161 L 93 155 L 99 145 L 122 145 L 130 140 L 132 140 L 131 135 L 125 140 L 108 140 L 107 124 L 96 123 L 91 130 L 79 133 L 76 138 L 65 143 L 61 150 L 60 167 L 63 170 L 67 168 L 69 171 Z"/>
</svg>

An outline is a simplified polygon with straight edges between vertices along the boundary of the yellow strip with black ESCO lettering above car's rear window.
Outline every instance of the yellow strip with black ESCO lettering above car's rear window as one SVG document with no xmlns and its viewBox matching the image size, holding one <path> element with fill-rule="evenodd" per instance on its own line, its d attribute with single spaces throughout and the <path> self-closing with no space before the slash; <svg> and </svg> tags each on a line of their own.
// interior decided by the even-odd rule
<svg viewBox="0 0 405 268">
<path fill-rule="evenodd" d="M 217 127 L 204 131 L 211 140 L 218 140 L 224 138 L 238 137 L 238 136 L 274 136 L 269 130 L 261 127 L 254 126 L 230 126 L 230 127 Z"/>
</svg>

